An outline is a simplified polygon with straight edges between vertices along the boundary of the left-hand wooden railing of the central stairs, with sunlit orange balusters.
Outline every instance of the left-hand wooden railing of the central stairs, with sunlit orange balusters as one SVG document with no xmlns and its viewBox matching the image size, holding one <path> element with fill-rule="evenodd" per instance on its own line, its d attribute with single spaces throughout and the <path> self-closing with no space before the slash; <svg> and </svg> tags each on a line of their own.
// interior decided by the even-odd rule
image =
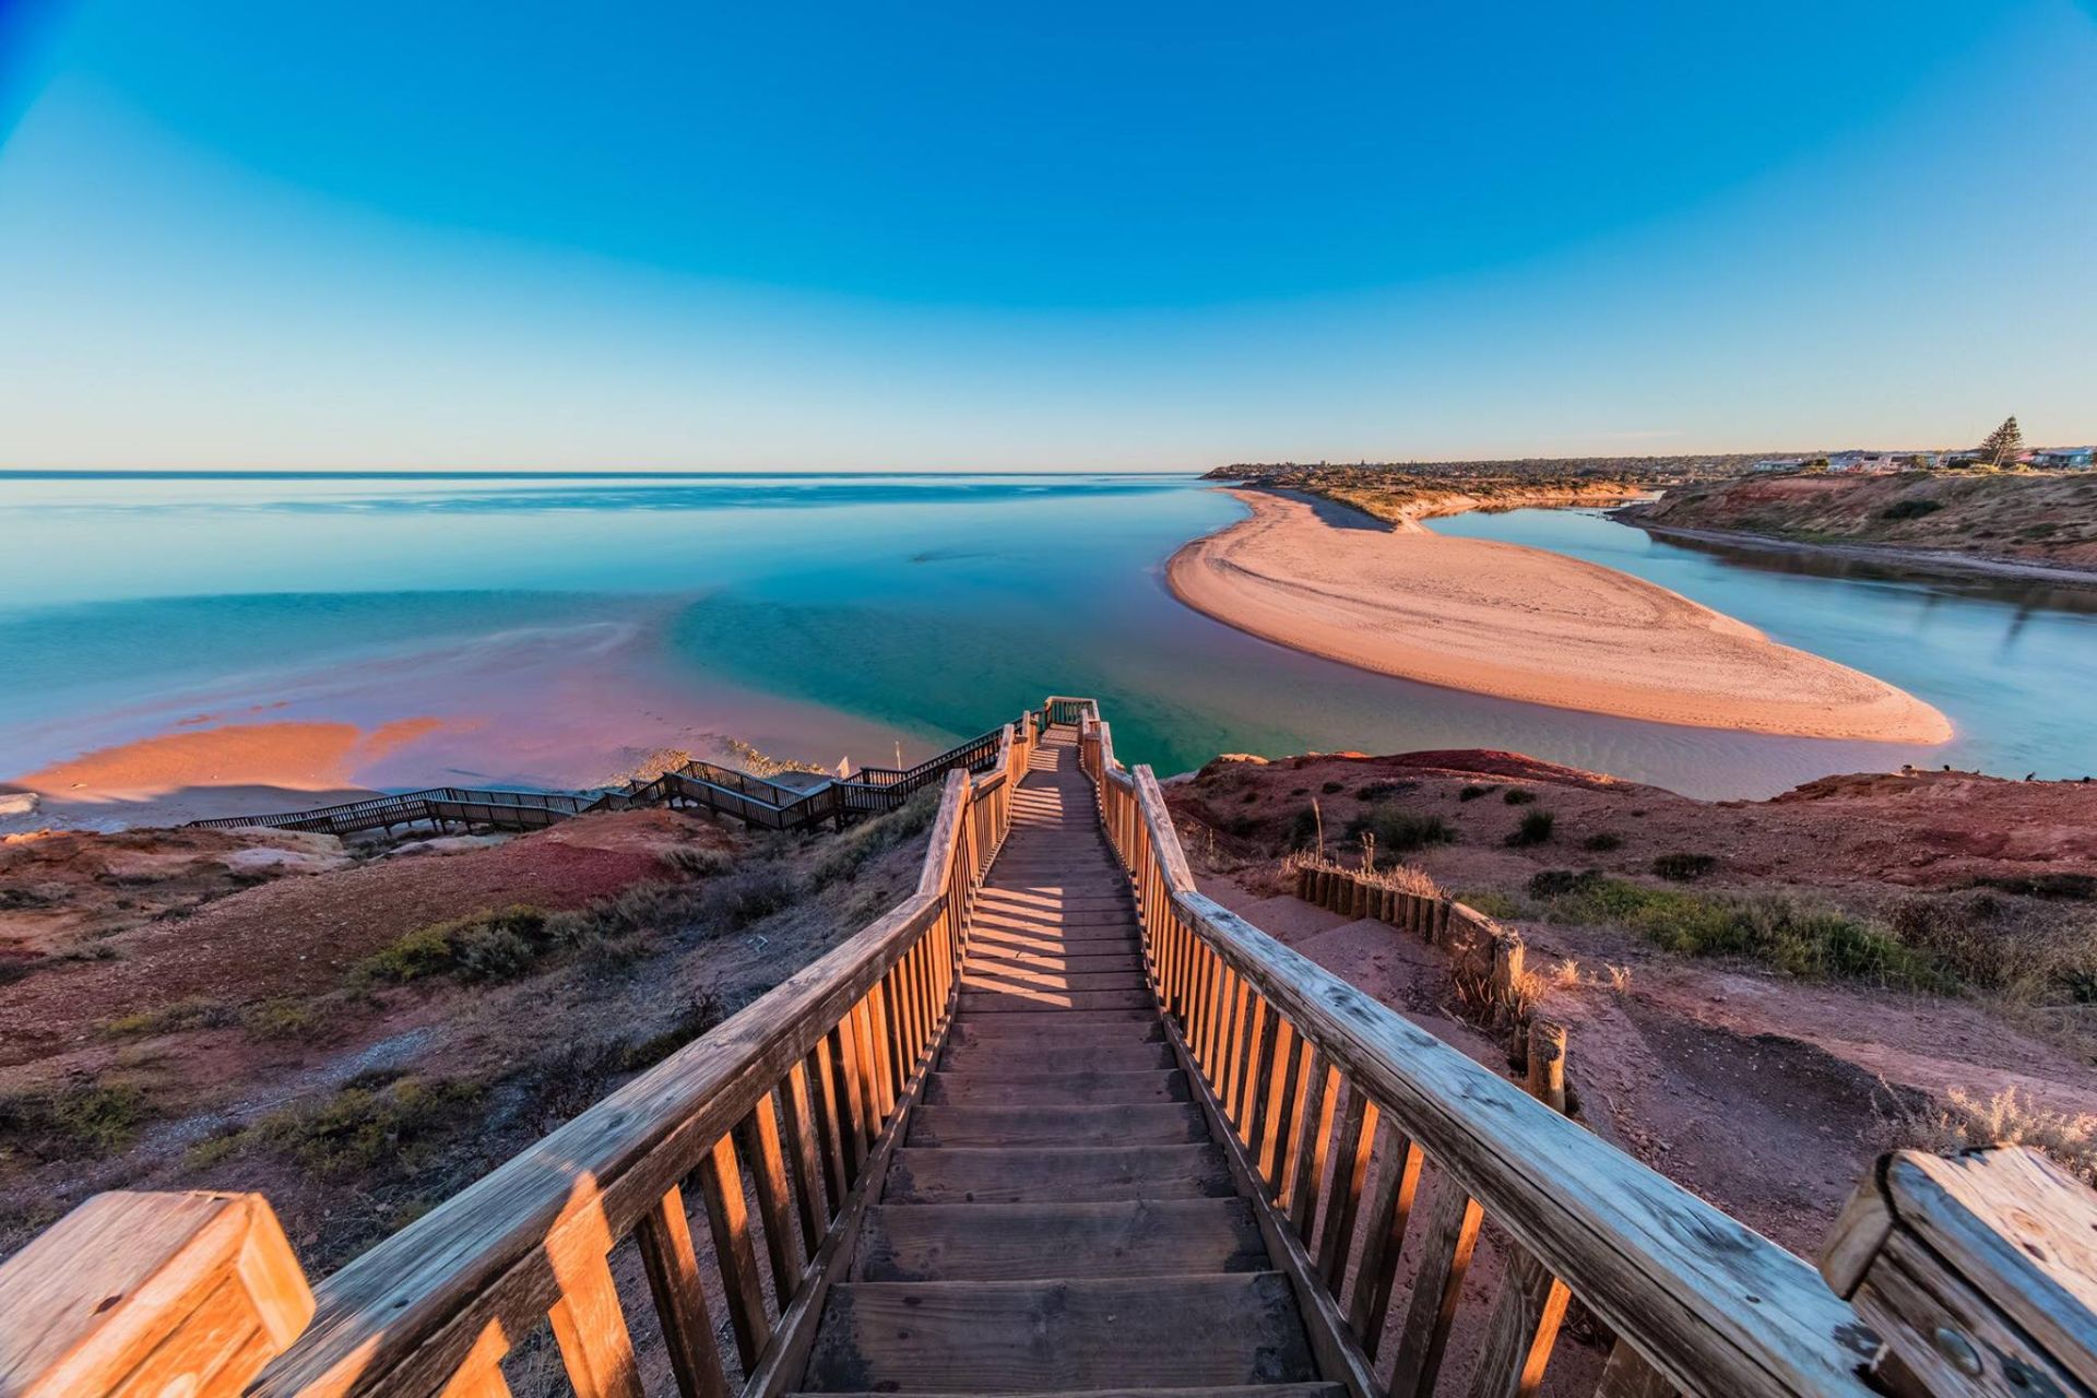
<svg viewBox="0 0 2097 1398">
<path fill-rule="evenodd" d="M 449 1392 L 449 1383 L 493 1373 L 507 1346 L 549 1310 L 570 1377 L 581 1373 L 596 1385 L 604 1373 L 631 1373 L 631 1341 L 617 1297 L 606 1295 L 604 1270 L 606 1253 L 625 1237 L 640 1237 L 654 1258 L 650 1281 L 673 1350 L 686 1356 L 682 1362 L 713 1367 L 694 1381 L 719 1383 L 713 1337 L 698 1333 L 690 1314 L 702 1302 L 677 1283 L 688 1274 L 679 1258 L 692 1247 L 682 1237 L 682 1205 L 673 1209 L 677 1220 L 665 1205 L 694 1172 L 709 1193 L 713 1243 L 747 1350 L 742 1369 L 761 1367 L 782 1339 L 768 1333 L 747 1224 L 738 1222 L 744 1205 L 736 1132 L 755 1142 L 759 1203 L 774 1174 L 793 1193 L 791 1201 L 774 1197 L 778 1216 L 765 1218 L 776 1245 L 784 1241 L 774 1228 L 793 1230 L 788 1214 L 828 1226 L 851 1214 L 868 1149 L 923 1073 L 950 1014 L 967 903 L 1011 824 L 1009 792 L 1025 769 L 1028 746 L 1028 736 L 1007 725 L 996 771 L 948 773 L 916 893 L 321 1283 L 312 1325 L 252 1392 Z M 820 1142 L 807 1134 L 809 1113 Z M 780 1121 L 793 1151 L 782 1153 Z M 803 1260 L 812 1260 L 822 1239 L 807 1237 L 807 1222 L 801 1228 Z M 774 1258 L 772 1314 L 791 1310 L 814 1281 L 809 1268 L 782 1276 Z M 585 1323 L 585 1314 L 593 1318 Z"/>
</svg>

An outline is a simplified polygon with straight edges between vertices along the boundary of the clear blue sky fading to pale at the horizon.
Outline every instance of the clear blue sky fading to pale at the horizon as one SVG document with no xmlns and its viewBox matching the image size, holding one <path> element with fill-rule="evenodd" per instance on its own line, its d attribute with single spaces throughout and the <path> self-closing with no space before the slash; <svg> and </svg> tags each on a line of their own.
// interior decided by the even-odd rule
<svg viewBox="0 0 2097 1398">
<path fill-rule="evenodd" d="M 13 467 L 2082 442 L 2093 249 L 2076 0 L 0 0 Z"/>
</svg>

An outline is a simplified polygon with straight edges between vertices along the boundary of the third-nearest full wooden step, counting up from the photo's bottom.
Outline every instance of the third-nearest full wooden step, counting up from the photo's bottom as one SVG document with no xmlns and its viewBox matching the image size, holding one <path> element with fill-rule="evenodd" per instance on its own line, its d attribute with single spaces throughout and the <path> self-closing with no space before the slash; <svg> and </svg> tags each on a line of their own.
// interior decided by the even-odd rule
<svg viewBox="0 0 2097 1398">
<path fill-rule="evenodd" d="M 883 1203 L 1114 1203 L 1237 1193 L 1216 1144 L 990 1151 L 898 1146 Z"/>
</svg>

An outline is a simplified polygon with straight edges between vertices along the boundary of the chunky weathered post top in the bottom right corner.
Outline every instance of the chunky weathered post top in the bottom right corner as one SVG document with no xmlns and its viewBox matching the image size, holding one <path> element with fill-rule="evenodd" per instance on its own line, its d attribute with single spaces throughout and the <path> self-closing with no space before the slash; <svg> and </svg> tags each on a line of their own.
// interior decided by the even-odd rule
<svg viewBox="0 0 2097 1398">
<path fill-rule="evenodd" d="M 2097 1390 L 2097 1193 L 2026 1149 L 1900 1151 L 1858 1186 L 1820 1274 L 1885 1339 L 1881 1388 Z"/>
</svg>

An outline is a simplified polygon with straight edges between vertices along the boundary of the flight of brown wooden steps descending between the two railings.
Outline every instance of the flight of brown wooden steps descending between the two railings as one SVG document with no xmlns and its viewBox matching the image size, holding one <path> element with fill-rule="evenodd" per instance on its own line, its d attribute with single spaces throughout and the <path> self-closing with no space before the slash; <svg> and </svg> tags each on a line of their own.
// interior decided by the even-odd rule
<svg viewBox="0 0 2097 1398">
<path fill-rule="evenodd" d="M 1338 1398 L 1166 1042 L 1139 937 L 1074 731 L 1048 729 L 805 1392 Z"/>
</svg>

